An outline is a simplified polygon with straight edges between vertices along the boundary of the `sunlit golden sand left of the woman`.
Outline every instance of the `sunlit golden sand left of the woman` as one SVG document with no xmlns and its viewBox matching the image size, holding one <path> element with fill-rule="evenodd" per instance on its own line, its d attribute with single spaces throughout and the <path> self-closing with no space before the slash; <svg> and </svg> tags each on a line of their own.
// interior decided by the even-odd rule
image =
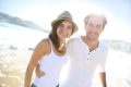
<svg viewBox="0 0 131 87">
<path fill-rule="evenodd" d="M 32 50 L 0 48 L 0 87 L 23 87 Z"/>
</svg>

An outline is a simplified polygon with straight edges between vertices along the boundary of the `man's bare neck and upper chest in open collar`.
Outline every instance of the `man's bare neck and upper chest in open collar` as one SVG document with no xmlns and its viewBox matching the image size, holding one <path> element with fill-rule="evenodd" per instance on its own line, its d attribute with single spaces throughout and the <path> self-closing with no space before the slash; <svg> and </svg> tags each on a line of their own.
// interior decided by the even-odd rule
<svg viewBox="0 0 131 87">
<path fill-rule="evenodd" d="M 82 36 L 82 40 L 88 46 L 90 51 L 95 50 L 98 47 L 98 39 L 96 40 L 88 40 L 85 36 Z"/>
</svg>

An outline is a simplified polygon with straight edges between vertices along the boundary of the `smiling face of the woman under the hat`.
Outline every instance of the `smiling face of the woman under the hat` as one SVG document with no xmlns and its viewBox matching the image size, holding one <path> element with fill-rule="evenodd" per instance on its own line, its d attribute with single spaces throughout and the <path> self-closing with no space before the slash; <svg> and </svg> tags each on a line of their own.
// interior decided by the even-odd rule
<svg viewBox="0 0 131 87">
<path fill-rule="evenodd" d="M 71 36 L 73 25 L 70 21 L 63 21 L 57 28 L 59 39 L 66 39 Z"/>
</svg>

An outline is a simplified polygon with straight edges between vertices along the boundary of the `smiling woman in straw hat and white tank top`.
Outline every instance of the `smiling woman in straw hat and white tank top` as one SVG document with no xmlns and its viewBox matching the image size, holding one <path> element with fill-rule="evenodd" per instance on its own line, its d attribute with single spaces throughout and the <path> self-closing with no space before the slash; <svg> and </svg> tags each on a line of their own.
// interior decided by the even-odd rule
<svg viewBox="0 0 131 87">
<path fill-rule="evenodd" d="M 31 86 L 32 74 L 37 64 L 43 76 L 36 76 L 32 87 L 56 87 L 62 65 L 67 62 L 66 39 L 78 30 L 68 11 L 61 13 L 51 23 L 49 37 L 41 40 L 35 48 L 25 75 L 25 87 Z"/>
</svg>

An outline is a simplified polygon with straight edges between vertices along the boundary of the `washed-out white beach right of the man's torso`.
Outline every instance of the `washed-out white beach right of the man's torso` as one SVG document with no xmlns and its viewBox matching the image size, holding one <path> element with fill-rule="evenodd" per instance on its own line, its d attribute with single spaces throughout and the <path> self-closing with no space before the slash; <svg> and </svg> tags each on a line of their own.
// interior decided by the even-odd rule
<svg viewBox="0 0 131 87">
<path fill-rule="evenodd" d="M 106 76 L 107 87 L 131 87 L 131 54 L 109 49 Z M 93 87 L 102 87 L 97 72 Z"/>
</svg>

